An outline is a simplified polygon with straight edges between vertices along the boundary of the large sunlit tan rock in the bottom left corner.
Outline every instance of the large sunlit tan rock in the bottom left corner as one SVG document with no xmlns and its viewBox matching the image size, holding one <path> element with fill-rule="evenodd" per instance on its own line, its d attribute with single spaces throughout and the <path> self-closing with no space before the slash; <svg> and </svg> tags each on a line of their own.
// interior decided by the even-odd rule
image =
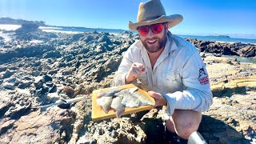
<svg viewBox="0 0 256 144">
<path fill-rule="evenodd" d="M 73 122 L 74 113 L 58 107 L 45 113 L 32 112 L 13 122 L 13 128 L 1 134 L 0 143 L 16 143 L 21 142 L 21 139 L 22 142 L 32 143 L 68 142 Z"/>
</svg>

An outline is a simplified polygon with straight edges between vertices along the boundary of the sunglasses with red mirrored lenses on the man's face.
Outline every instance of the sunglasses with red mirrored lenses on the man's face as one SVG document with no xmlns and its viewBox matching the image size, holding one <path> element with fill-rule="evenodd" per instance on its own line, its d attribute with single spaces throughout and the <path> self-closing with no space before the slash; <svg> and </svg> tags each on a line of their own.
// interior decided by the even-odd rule
<svg viewBox="0 0 256 144">
<path fill-rule="evenodd" d="M 150 25 L 150 26 L 139 26 L 137 28 L 138 30 L 138 34 L 142 35 L 142 36 L 146 36 L 146 34 L 149 33 L 149 30 L 151 29 L 151 31 L 154 33 L 154 34 L 158 34 L 158 33 L 161 33 L 162 32 L 162 29 L 163 27 L 166 25 L 166 22 L 165 23 L 157 23 L 157 24 L 154 24 L 154 25 Z"/>
</svg>

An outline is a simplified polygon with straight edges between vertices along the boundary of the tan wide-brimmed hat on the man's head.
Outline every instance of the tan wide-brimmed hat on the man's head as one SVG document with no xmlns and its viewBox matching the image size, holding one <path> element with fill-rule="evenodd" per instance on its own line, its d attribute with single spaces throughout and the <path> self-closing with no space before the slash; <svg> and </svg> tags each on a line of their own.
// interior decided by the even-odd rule
<svg viewBox="0 0 256 144">
<path fill-rule="evenodd" d="M 180 14 L 166 16 L 166 10 L 160 0 L 150 0 L 139 4 L 137 22 L 128 22 L 128 26 L 130 30 L 137 31 L 138 26 L 168 22 L 168 29 L 170 29 L 178 25 L 182 20 L 183 17 Z"/>
</svg>

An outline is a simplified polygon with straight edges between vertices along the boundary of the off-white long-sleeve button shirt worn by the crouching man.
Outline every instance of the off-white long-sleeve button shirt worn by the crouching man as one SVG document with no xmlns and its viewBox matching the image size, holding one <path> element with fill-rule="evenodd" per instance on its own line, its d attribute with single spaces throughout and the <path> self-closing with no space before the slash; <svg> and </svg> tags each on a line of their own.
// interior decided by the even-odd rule
<svg viewBox="0 0 256 144">
<path fill-rule="evenodd" d="M 165 49 L 153 69 L 142 42 L 134 42 L 118 67 L 115 85 L 126 84 L 126 73 L 134 62 L 145 66 L 146 71 L 138 80 L 166 98 L 170 115 L 174 109 L 202 112 L 212 105 L 213 96 L 205 64 L 196 47 L 185 39 L 169 32 Z"/>
</svg>

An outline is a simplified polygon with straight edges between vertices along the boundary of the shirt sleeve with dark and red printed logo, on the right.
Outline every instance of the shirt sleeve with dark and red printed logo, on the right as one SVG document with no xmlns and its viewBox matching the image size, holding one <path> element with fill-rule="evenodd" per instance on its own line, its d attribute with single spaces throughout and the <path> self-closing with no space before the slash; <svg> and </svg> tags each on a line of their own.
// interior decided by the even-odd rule
<svg viewBox="0 0 256 144">
<path fill-rule="evenodd" d="M 197 51 L 191 54 L 182 67 L 183 91 L 162 94 L 167 100 L 167 113 L 172 115 L 175 109 L 206 111 L 213 103 L 213 95 L 206 66 Z"/>
</svg>

